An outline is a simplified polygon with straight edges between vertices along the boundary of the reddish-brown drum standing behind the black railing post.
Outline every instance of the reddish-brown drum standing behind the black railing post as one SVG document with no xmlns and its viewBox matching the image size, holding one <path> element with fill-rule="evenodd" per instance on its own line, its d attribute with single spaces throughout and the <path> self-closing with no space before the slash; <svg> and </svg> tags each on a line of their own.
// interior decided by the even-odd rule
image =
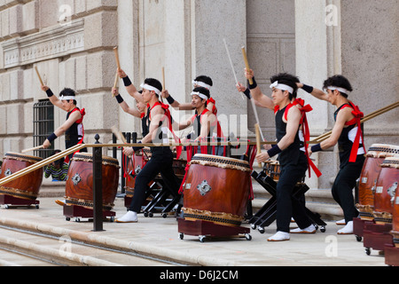
<svg viewBox="0 0 399 284">
<path fill-rule="evenodd" d="M 119 162 L 103 156 L 102 162 L 103 210 L 113 209 L 119 183 Z M 66 205 L 93 209 L 93 155 L 74 154 L 66 180 Z"/>
</svg>

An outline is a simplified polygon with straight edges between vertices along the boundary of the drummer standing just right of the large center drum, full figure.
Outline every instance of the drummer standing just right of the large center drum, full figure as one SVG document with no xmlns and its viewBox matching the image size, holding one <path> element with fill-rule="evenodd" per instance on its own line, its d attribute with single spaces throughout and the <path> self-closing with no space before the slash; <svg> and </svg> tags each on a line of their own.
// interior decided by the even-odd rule
<svg viewBox="0 0 399 284">
<path fill-rule="evenodd" d="M 254 72 L 246 70 L 246 78 L 253 79 L 249 85 L 251 95 L 263 107 L 270 108 L 276 114 L 276 136 L 278 144 L 269 151 L 258 153 L 257 162 L 266 162 L 278 154 L 281 172 L 277 185 L 277 233 L 268 241 L 289 241 L 291 217 L 299 226 L 292 233 L 316 233 L 316 227 L 306 215 L 305 206 L 293 198 L 293 188 L 305 176 L 308 170 L 308 159 L 301 151 L 299 128 L 301 111 L 293 107 L 293 98 L 296 98 L 298 78 L 293 75 L 279 74 L 270 79 L 272 95 L 262 94 L 254 80 Z"/>
</svg>

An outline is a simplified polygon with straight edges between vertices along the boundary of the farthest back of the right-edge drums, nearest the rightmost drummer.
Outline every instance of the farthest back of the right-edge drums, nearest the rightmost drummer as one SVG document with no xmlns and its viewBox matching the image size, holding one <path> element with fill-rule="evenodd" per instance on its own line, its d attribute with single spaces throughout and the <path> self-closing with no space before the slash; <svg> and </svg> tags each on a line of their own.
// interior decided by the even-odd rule
<svg viewBox="0 0 399 284">
<path fill-rule="evenodd" d="M 362 220 L 373 220 L 375 184 L 381 170 L 381 163 L 387 157 L 399 154 L 399 146 L 374 144 L 366 154 L 364 167 L 359 178 L 359 202 L 356 208 Z"/>
</svg>

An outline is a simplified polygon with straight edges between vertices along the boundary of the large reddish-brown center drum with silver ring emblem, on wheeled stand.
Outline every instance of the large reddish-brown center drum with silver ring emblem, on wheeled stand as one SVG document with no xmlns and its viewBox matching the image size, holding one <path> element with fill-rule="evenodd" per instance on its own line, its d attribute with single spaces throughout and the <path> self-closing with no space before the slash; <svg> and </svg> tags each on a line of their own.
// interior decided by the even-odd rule
<svg viewBox="0 0 399 284">
<path fill-rule="evenodd" d="M 184 184 L 184 219 L 241 225 L 250 193 L 246 161 L 196 154 Z"/>
</svg>

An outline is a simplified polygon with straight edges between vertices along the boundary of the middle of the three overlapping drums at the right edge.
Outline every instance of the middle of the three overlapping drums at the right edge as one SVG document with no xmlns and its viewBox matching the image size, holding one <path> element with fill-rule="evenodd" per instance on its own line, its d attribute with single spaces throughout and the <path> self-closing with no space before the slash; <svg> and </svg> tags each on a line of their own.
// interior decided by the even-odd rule
<svg viewBox="0 0 399 284">
<path fill-rule="evenodd" d="M 374 220 L 376 224 L 391 224 L 399 183 L 399 156 L 390 157 L 381 164 L 375 187 Z"/>
</svg>

